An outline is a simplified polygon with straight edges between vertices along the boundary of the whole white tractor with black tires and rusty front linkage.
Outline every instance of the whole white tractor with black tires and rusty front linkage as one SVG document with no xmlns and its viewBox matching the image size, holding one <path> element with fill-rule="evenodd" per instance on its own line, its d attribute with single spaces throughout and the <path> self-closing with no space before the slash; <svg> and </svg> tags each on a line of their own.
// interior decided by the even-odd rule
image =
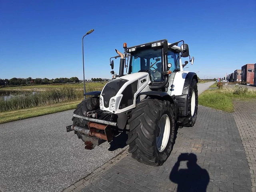
<svg viewBox="0 0 256 192">
<path fill-rule="evenodd" d="M 183 70 L 188 61 L 181 61 L 190 58 L 188 44 L 164 39 L 127 48 L 124 43 L 124 53 L 116 52 L 119 74 L 111 71 L 113 79 L 101 92 L 86 93 L 91 97 L 78 104 L 67 132 L 74 130 L 86 149 L 126 133 L 132 158 L 160 166 L 170 156 L 176 127 L 196 122 L 198 79 Z"/>
</svg>

